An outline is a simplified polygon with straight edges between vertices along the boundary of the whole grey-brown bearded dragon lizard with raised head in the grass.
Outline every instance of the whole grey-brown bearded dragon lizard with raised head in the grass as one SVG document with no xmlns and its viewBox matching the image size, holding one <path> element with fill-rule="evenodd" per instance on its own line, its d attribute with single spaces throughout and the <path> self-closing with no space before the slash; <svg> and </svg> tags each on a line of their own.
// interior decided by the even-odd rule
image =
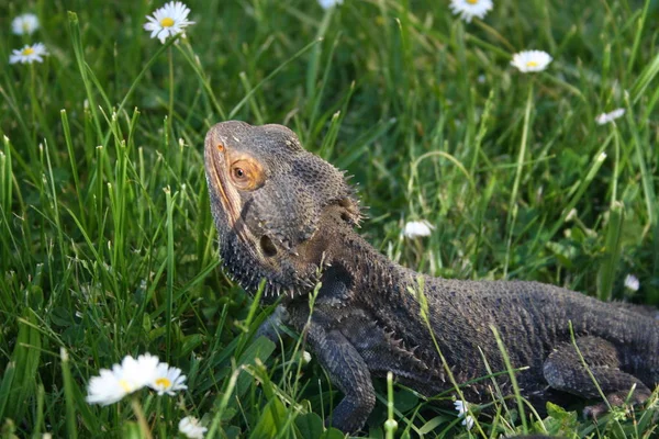
<svg viewBox="0 0 659 439">
<path fill-rule="evenodd" d="M 561 393 L 599 397 L 570 344 L 570 322 L 611 403 L 622 404 L 633 385 L 640 403 L 659 383 L 659 325 L 647 309 L 537 282 L 431 278 L 390 261 L 355 233 L 358 202 L 343 173 L 305 151 L 287 127 L 220 123 L 204 154 L 224 268 L 248 291 L 265 278 L 265 300 L 281 296 L 261 334 L 276 337 L 283 322 L 306 335 L 344 394 L 331 419 L 343 431 L 364 426 L 376 401 L 373 376 L 391 371 L 426 395 L 451 387 L 431 329 L 446 367 L 465 383 L 488 374 L 481 351 L 493 372 L 505 370 L 496 328 L 513 368 L 528 367 L 516 378 L 534 404 Z M 311 311 L 308 295 L 319 281 Z M 465 386 L 466 399 L 491 401 L 490 385 Z M 585 412 L 594 417 L 604 407 Z"/>
</svg>

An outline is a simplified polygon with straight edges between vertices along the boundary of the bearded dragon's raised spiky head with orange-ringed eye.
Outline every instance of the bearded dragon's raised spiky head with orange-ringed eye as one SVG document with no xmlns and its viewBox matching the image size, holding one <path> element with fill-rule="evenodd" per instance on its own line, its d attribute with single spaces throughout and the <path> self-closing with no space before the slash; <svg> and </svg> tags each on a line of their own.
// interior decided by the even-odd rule
<svg viewBox="0 0 659 439">
<path fill-rule="evenodd" d="M 230 121 L 208 132 L 204 164 L 225 270 L 247 291 L 266 279 L 265 299 L 313 290 L 324 248 L 314 239 L 324 212 L 360 218 L 344 173 L 308 153 L 282 125 Z"/>
</svg>

